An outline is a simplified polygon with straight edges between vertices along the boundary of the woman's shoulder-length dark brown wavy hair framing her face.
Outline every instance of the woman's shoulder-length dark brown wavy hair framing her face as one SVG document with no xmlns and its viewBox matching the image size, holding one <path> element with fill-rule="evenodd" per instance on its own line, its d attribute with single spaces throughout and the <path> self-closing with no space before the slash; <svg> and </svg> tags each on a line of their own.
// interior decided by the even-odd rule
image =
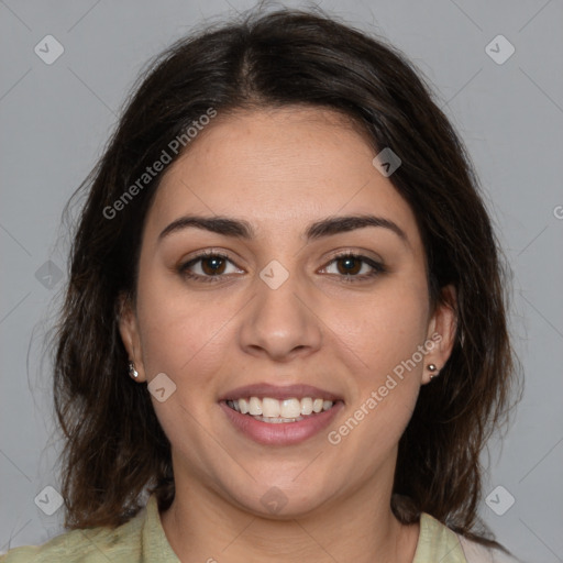
<svg viewBox="0 0 563 563">
<path fill-rule="evenodd" d="M 421 388 L 400 440 L 393 509 L 405 523 L 426 511 L 468 538 L 484 533 L 476 528 L 479 454 L 506 420 L 515 369 L 506 279 L 477 180 L 402 55 L 333 18 L 294 10 L 251 12 L 173 45 L 134 88 L 81 186 L 54 379 L 68 528 L 118 526 L 147 490 L 161 508 L 174 498 L 170 444 L 146 386 L 126 375 L 118 330 L 119 297 L 134 297 L 142 229 L 162 173 L 119 213 L 104 210 L 210 108 L 228 114 L 291 104 L 345 114 L 376 150 L 390 147 L 402 161 L 390 180 L 417 217 L 429 298 L 440 302 L 452 284 L 457 325 L 451 357 Z"/>
</svg>

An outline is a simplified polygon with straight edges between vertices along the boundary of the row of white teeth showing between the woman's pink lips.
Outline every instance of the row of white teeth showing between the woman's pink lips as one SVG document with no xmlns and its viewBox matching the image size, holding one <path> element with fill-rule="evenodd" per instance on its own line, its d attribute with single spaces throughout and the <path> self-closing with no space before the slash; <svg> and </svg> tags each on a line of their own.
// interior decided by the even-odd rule
<svg viewBox="0 0 563 563">
<path fill-rule="evenodd" d="M 229 400 L 228 405 L 242 415 L 252 415 L 257 420 L 279 423 L 295 422 L 313 412 L 319 413 L 329 410 L 334 402 L 322 398 L 312 399 L 311 397 L 303 397 L 301 400 L 297 398 L 278 400 L 272 397 L 262 399 L 250 397 L 247 399 Z"/>
</svg>

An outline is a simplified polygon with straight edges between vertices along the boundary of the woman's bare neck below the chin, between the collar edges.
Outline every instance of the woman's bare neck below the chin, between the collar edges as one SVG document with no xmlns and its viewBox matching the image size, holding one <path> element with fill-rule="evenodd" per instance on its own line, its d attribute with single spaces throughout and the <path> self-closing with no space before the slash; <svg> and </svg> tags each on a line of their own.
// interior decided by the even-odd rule
<svg viewBox="0 0 563 563">
<path fill-rule="evenodd" d="M 180 481 L 161 519 L 181 561 L 209 563 L 411 563 L 419 534 L 418 523 L 404 526 L 394 517 L 390 493 L 378 487 L 329 499 L 307 515 L 274 519 Z"/>
</svg>

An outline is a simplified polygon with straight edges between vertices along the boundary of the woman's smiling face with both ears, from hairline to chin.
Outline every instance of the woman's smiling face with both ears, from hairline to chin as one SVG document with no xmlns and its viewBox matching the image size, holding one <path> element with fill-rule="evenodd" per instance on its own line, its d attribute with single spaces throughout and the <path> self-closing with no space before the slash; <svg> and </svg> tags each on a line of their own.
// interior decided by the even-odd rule
<svg viewBox="0 0 563 563">
<path fill-rule="evenodd" d="M 121 333 L 177 481 L 288 517 L 390 495 L 453 319 L 374 156 L 335 113 L 261 110 L 219 115 L 163 177 Z"/>
</svg>

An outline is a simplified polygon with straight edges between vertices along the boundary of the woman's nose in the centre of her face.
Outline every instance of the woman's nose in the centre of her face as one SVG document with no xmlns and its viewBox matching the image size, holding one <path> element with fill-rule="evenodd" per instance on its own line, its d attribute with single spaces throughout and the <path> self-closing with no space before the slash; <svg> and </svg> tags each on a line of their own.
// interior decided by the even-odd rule
<svg viewBox="0 0 563 563">
<path fill-rule="evenodd" d="M 279 287 L 264 279 L 256 278 L 257 292 L 245 308 L 239 331 L 241 347 L 276 362 L 317 352 L 322 343 L 322 321 L 305 284 L 294 275 Z"/>
</svg>

